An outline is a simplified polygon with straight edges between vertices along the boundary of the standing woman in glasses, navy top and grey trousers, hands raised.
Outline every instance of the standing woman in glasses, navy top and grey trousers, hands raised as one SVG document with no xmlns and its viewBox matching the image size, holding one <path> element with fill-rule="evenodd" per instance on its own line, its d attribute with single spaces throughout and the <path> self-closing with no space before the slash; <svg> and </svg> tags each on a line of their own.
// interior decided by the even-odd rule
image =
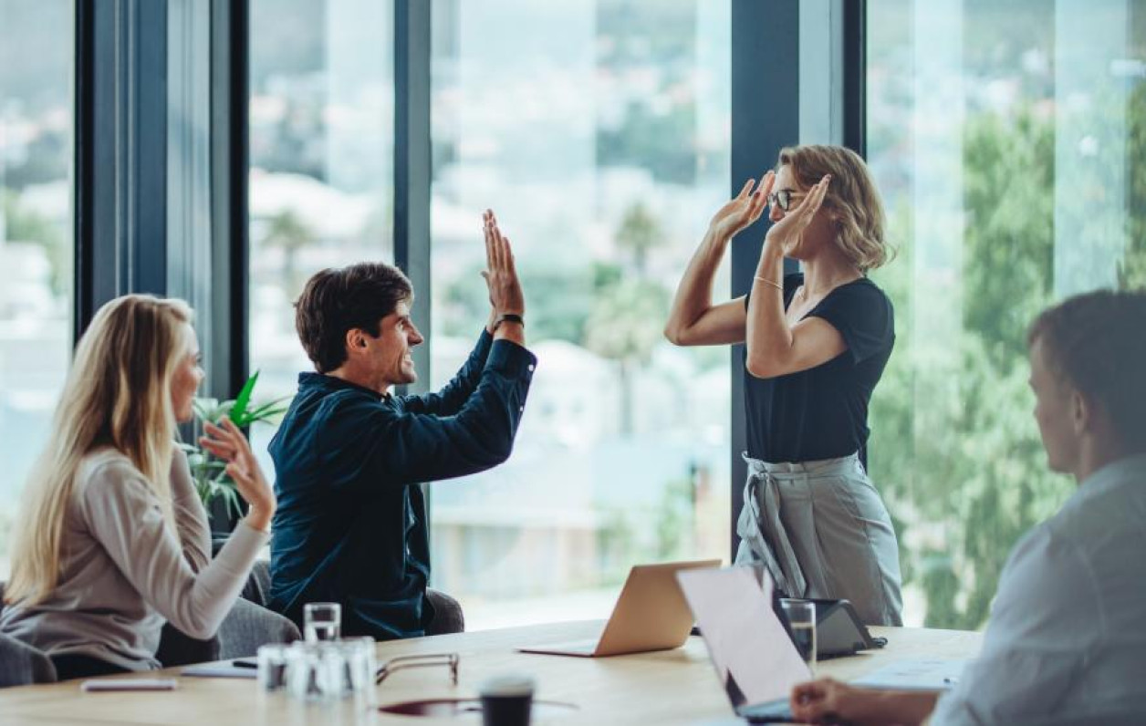
<svg viewBox="0 0 1146 726">
<path fill-rule="evenodd" d="M 713 305 L 732 237 L 770 205 L 752 291 Z M 784 258 L 803 274 L 783 274 Z M 761 562 L 796 598 L 847 598 L 900 625 L 892 521 L 864 467 L 868 404 L 895 344 L 892 302 L 868 277 L 887 261 L 866 165 L 842 147 L 783 149 L 708 227 L 665 329 L 678 346 L 745 344 L 748 481 L 737 563 Z"/>
</svg>

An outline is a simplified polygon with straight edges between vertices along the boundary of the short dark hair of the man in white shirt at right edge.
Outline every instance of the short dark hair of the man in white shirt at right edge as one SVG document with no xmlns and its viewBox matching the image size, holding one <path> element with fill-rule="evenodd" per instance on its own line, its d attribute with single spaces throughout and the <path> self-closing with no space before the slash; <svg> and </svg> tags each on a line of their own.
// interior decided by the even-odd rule
<svg viewBox="0 0 1146 726">
<path fill-rule="evenodd" d="M 1051 373 L 1097 403 L 1122 443 L 1146 444 L 1146 291 L 1068 298 L 1035 318 L 1027 344 L 1036 341 Z"/>
</svg>

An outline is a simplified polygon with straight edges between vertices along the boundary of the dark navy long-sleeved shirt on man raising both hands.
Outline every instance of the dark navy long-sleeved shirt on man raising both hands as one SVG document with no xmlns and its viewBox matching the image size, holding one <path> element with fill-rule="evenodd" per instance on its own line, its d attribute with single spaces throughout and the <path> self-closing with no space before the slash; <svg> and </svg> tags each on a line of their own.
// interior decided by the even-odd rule
<svg viewBox="0 0 1146 726">
<path fill-rule="evenodd" d="M 422 482 L 509 458 L 536 358 L 482 332 L 437 394 L 382 396 L 321 373 L 270 441 L 278 508 L 269 607 L 300 626 L 307 602 L 340 602 L 343 634 L 424 634 L 430 546 Z"/>
</svg>

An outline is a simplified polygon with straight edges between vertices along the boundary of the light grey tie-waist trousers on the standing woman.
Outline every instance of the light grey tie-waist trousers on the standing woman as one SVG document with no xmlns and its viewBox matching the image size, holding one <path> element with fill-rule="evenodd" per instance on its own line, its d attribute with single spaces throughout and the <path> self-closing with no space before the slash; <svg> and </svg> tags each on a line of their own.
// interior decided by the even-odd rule
<svg viewBox="0 0 1146 726">
<path fill-rule="evenodd" d="M 895 530 L 859 457 L 744 460 L 736 563 L 763 565 L 793 598 L 846 598 L 869 625 L 902 625 Z"/>
</svg>

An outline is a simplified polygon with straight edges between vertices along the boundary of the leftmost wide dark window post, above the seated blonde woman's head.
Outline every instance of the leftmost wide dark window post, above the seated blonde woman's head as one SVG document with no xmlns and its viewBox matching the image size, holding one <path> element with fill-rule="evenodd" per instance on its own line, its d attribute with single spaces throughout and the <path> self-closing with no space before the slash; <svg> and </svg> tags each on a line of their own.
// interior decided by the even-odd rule
<svg viewBox="0 0 1146 726">
<path fill-rule="evenodd" d="M 166 292 L 167 11 L 76 1 L 78 339 L 127 292 Z"/>
</svg>

